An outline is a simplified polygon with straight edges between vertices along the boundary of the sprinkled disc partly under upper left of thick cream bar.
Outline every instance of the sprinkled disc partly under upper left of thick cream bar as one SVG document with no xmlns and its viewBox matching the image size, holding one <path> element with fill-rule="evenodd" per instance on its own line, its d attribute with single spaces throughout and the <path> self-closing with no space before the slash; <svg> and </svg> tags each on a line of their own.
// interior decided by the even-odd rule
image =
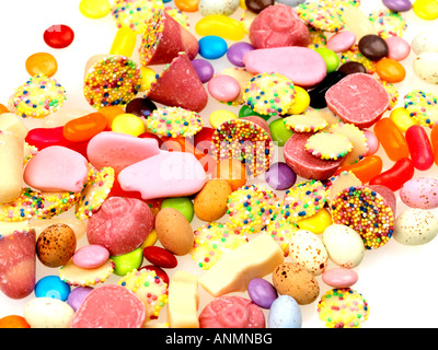
<svg viewBox="0 0 438 350">
<path fill-rule="evenodd" d="M 247 237 L 240 234 L 239 229 L 219 222 L 200 226 L 194 234 L 191 256 L 203 270 L 208 270 L 223 255 L 247 243 Z"/>
</svg>

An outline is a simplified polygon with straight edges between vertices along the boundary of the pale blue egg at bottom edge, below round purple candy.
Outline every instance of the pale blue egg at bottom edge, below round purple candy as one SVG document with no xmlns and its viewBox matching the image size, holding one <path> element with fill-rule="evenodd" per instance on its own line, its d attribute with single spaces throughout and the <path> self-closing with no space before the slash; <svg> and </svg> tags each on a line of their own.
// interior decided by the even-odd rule
<svg viewBox="0 0 438 350">
<path fill-rule="evenodd" d="M 268 328 L 301 328 L 301 310 L 290 295 L 279 295 L 270 305 Z"/>
</svg>

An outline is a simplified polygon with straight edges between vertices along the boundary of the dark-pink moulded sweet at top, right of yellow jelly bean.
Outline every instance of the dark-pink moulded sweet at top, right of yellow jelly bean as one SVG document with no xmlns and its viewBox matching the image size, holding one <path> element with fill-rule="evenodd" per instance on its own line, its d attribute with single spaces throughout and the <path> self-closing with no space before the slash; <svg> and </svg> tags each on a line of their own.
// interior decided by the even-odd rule
<svg viewBox="0 0 438 350">
<path fill-rule="evenodd" d="M 251 23 L 249 37 L 255 48 L 308 46 L 310 34 L 297 11 L 278 3 L 264 9 Z"/>
</svg>

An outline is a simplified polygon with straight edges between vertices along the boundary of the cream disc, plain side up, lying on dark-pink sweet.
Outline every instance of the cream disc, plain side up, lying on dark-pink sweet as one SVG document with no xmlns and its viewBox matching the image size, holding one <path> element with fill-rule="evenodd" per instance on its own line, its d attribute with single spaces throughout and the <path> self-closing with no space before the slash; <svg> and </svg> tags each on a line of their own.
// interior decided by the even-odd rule
<svg viewBox="0 0 438 350">
<path fill-rule="evenodd" d="M 353 150 L 351 141 L 344 135 L 318 132 L 306 142 L 306 150 L 322 160 L 338 160 Z"/>
</svg>

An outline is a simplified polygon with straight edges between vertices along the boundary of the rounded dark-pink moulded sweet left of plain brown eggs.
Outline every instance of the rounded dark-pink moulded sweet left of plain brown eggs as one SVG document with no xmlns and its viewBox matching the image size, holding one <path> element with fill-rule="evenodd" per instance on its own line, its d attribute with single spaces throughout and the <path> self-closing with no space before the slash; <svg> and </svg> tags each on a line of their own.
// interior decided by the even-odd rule
<svg viewBox="0 0 438 350">
<path fill-rule="evenodd" d="M 138 248 L 155 223 L 149 206 L 140 199 L 110 197 L 87 223 L 89 244 L 105 247 L 111 255 Z"/>
</svg>

